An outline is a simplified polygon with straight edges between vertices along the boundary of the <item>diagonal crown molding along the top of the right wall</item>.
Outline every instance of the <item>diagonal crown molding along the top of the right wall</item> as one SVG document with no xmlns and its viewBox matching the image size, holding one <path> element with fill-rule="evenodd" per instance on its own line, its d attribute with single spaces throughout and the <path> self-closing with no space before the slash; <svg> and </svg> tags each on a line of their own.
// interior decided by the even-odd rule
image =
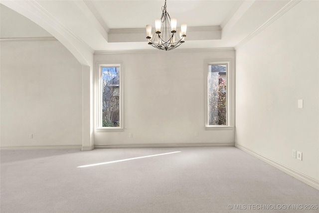
<svg viewBox="0 0 319 213">
<path fill-rule="evenodd" d="M 243 46 L 245 43 L 247 43 L 249 40 L 251 40 L 253 37 L 255 37 L 258 33 L 263 31 L 267 26 L 269 26 L 271 23 L 276 21 L 279 17 L 281 17 L 283 14 L 285 14 L 288 10 L 293 8 L 296 4 L 298 4 L 302 0 L 291 0 L 289 1 L 283 8 L 281 8 L 278 12 L 276 12 L 271 18 L 269 18 L 265 23 L 263 23 L 260 27 L 258 27 L 256 30 L 254 30 L 252 33 L 247 35 L 242 41 L 240 41 L 236 46 L 235 50 Z"/>
</svg>

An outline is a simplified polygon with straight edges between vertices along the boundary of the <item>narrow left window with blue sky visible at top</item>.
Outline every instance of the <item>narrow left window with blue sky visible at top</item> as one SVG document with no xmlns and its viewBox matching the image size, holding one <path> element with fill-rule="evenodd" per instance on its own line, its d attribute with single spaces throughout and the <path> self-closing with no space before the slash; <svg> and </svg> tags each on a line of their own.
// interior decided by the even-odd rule
<svg viewBox="0 0 319 213">
<path fill-rule="evenodd" d="M 100 65 L 99 128 L 122 128 L 122 83 L 119 64 Z"/>
</svg>

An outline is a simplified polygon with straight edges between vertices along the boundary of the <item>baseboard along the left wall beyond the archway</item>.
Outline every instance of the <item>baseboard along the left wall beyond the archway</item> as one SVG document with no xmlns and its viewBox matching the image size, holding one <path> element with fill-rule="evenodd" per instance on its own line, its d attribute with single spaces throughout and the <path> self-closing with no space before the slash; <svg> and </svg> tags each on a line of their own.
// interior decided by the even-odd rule
<svg viewBox="0 0 319 213">
<path fill-rule="evenodd" d="M 82 145 L 29 145 L 29 146 L 0 146 L 0 150 L 53 150 L 81 149 Z"/>
</svg>

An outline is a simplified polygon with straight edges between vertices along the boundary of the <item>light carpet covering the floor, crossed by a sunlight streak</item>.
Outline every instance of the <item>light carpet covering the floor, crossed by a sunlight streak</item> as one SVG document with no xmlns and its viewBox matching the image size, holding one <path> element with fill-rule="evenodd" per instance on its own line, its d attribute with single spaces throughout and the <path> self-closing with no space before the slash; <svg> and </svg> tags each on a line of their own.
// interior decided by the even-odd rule
<svg viewBox="0 0 319 213">
<path fill-rule="evenodd" d="M 319 212 L 318 190 L 235 147 L 0 155 L 1 213 Z"/>
</svg>

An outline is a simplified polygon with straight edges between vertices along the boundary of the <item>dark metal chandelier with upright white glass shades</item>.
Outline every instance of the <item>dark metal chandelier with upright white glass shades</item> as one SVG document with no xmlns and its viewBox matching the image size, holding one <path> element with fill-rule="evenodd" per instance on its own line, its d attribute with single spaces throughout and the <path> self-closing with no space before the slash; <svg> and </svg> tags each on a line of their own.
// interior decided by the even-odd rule
<svg viewBox="0 0 319 213">
<path fill-rule="evenodd" d="M 146 34 L 149 44 L 158 49 L 171 50 L 185 42 L 186 27 L 185 23 L 180 25 L 180 31 L 176 33 L 176 18 L 170 18 L 166 11 L 166 0 L 161 7 L 160 19 L 155 20 L 155 33 L 152 35 L 152 26 L 146 25 Z"/>
</svg>

